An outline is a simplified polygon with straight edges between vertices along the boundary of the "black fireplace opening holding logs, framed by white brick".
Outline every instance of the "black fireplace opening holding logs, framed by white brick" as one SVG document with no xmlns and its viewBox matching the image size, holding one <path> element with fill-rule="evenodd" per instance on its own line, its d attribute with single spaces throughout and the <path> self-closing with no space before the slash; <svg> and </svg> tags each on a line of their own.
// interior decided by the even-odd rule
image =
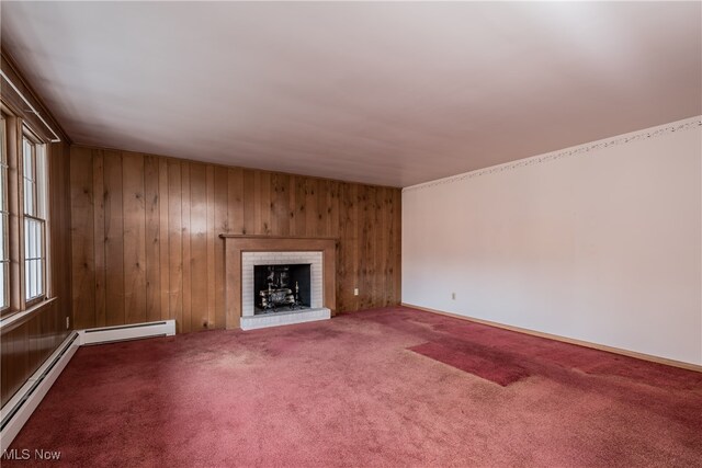
<svg viewBox="0 0 702 468">
<path fill-rule="evenodd" d="M 312 305 L 310 263 L 253 266 L 253 313 L 307 309 Z"/>
</svg>

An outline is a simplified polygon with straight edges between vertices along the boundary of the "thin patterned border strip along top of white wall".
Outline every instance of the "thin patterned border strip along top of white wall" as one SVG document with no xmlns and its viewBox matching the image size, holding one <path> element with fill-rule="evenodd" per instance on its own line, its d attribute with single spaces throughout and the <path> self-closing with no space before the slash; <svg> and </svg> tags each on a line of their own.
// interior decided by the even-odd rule
<svg viewBox="0 0 702 468">
<path fill-rule="evenodd" d="M 467 179 L 478 178 L 480 175 L 489 175 L 498 172 L 511 171 L 514 169 L 525 168 L 529 165 L 541 164 L 543 162 L 556 161 L 564 158 L 570 158 L 576 156 L 582 156 L 607 149 L 613 146 L 627 145 L 634 141 L 641 141 L 648 138 L 657 138 L 664 135 L 673 133 L 690 130 L 693 128 L 702 127 L 702 115 L 695 117 L 684 118 L 682 121 L 671 122 L 669 124 L 660 125 L 657 127 L 650 127 L 643 130 L 632 132 L 624 135 L 619 135 L 611 138 L 604 138 L 597 141 L 591 141 L 584 145 L 569 147 L 563 150 L 546 152 L 539 156 L 532 156 L 530 158 L 518 159 L 517 161 L 506 162 L 503 164 L 491 165 L 485 169 L 478 169 L 471 172 L 464 172 L 462 174 L 452 175 L 444 179 L 438 179 L 431 182 L 424 182 L 422 184 L 411 185 L 403 189 L 404 192 L 414 192 L 423 189 L 430 189 L 439 185 L 452 184 L 461 182 Z"/>
</svg>

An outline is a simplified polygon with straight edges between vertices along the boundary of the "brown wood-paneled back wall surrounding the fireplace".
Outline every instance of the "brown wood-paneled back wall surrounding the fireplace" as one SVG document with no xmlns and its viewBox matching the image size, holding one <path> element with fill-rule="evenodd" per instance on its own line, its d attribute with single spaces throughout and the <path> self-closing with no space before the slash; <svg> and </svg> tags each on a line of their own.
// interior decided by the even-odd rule
<svg viewBox="0 0 702 468">
<path fill-rule="evenodd" d="M 80 146 L 70 187 L 76 328 L 224 328 L 220 233 L 336 237 L 339 311 L 400 300 L 399 189 Z"/>
</svg>

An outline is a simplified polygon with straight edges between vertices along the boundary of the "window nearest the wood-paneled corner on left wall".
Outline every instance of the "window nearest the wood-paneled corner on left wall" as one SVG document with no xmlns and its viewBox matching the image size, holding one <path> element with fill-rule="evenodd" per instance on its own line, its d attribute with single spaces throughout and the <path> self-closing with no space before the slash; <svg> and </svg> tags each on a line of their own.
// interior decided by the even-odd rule
<svg viewBox="0 0 702 468">
<path fill-rule="evenodd" d="M 44 145 L 22 136 L 24 187 L 24 298 L 44 298 L 46 278 L 46 155 Z"/>
</svg>

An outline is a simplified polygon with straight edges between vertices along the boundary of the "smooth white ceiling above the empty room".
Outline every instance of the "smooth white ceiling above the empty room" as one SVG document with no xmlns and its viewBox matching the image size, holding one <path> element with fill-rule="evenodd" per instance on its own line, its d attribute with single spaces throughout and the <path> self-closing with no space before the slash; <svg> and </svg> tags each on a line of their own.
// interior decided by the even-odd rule
<svg viewBox="0 0 702 468">
<path fill-rule="evenodd" d="M 407 186 L 702 114 L 702 3 L 8 2 L 78 144 Z"/>
</svg>

